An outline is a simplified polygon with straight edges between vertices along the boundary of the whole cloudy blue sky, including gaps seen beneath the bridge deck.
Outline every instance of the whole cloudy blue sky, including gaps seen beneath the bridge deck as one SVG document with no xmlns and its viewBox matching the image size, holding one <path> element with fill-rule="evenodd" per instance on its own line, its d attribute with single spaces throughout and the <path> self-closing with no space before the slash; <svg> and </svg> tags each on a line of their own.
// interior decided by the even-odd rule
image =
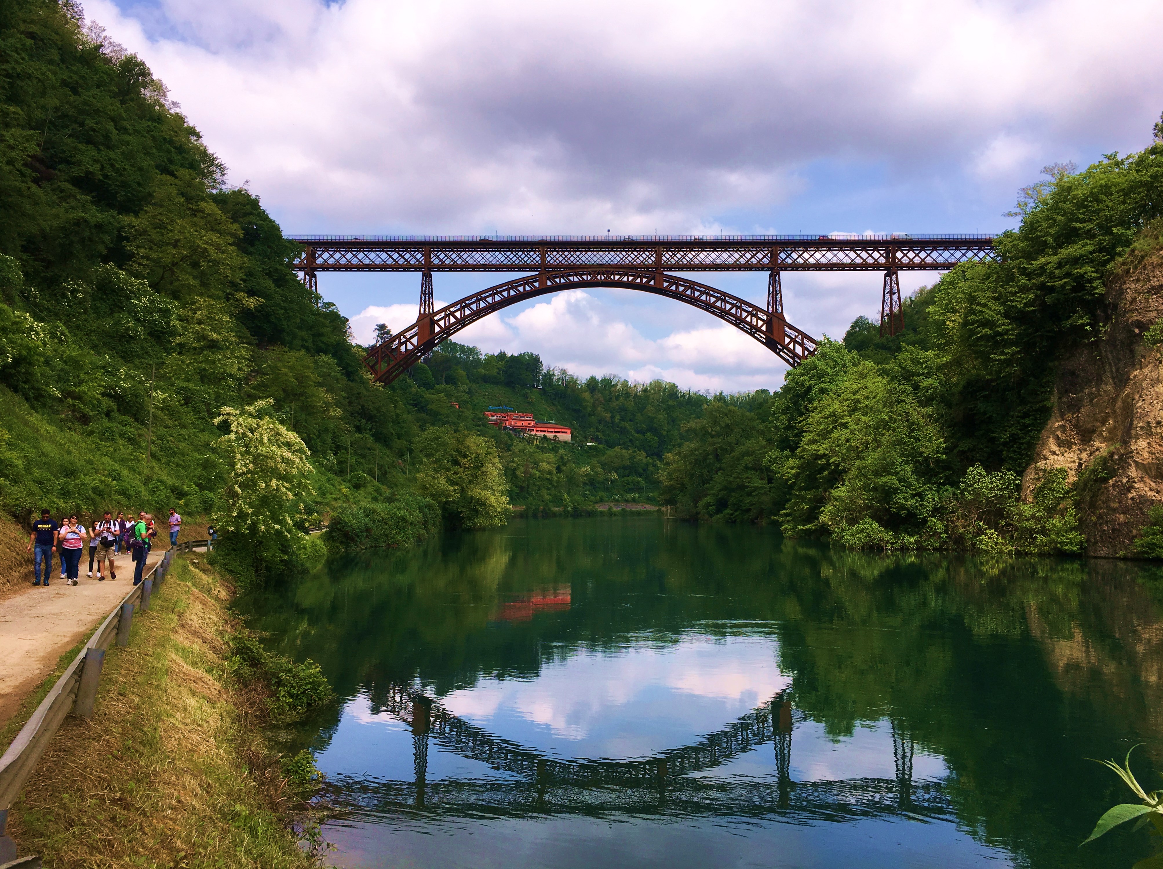
<svg viewBox="0 0 1163 869">
<path fill-rule="evenodd" d="M 989 233 L 1043 166 L 1146 147 L 1163 3 L 1054 0 L 90 0 L 288 235 Z M 504 275 L 435 276 L 437 305 Z M 758 304 L 762 272 L 695 276 Z M 932 283 L 905 272 L 901 289 Z M 321 275 L 369 342 L 419 275 Z M 882 277 L 784 276 L 841 337 Z M 456 340 L 582 376 L 777 389 L 713 316 L 626 290 Z"/>
</svg>

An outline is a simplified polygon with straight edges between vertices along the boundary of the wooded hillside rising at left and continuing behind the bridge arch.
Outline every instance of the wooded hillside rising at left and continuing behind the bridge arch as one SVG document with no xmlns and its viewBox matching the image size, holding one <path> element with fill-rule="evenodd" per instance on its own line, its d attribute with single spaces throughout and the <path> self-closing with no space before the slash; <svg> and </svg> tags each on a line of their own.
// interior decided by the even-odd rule
<svg viewBox="0 0 1163 869">
<path fill-rule="evenodd" d="M 445 492 L 448 518 L 463 520 L 447 485 L 468 461 L 462 449 L 484 456 L 466 485 L 500 486 L 502 501 L 497 468 L 530 507 L 656 492 L 663 455 L 705 397 L 582 383 L 543 372 L 528 354 L 452 343 L 377 386 L 344 318 L 290 270 L 294 245 L 256 195 L 223 177 L 164 85 L 73 7 L 0 7 L 0 504 L 9 514 L 211 514 L 229 472 L 215 444 L 230 423 L 215 420 L 256 403 L 309 450 L 304 522 L 418 489 L 437 500 Z M 490 405 L 570 425 L 575 443 L 500 433 L 484 422 Z M 450 430 L 465 434 L 454 443 Z"/>
</svg>

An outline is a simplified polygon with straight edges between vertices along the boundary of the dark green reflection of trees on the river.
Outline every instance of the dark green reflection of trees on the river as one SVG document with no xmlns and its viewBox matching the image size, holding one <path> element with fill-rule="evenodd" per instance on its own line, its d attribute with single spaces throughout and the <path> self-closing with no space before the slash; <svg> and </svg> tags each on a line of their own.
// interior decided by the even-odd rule
<svg viewBox="0 0 1163 869">
<path fill-rule="evenodd" d="M 948 799 L 978 838 L 1039 867 L 1129 864 L 1143 847 L 1129 835 L 1075 846 L 1121 798 L 1082 758 L 1123 741 L 1160 756 L 1163 579 L 1149 570 L 876 556 L 651 519 L 516 527 L 529 536 L 447 537 L 331 564 L 251 601 L 264 613 L 256 627 L 319 661 L 345 696 L 416 677 L 440 696 L 642 634 L 769 631 L 798 714 L 834 738 L 890 719 L 946 760 Z M 568 611 L 490 621 L 512 596 L 559 584 Z"/>
</svg>

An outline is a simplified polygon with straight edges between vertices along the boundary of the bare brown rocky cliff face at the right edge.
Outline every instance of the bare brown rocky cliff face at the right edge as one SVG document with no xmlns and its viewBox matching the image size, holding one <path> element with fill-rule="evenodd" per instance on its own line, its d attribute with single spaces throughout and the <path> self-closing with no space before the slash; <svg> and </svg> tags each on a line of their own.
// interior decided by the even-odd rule
<svg viewBox="0 0 1163 869">
<path fill-rule="evenodd" d="M 1143 333 L 1163 318 L 1163 250 L 1140 257 L 1107 283 L 1106 334 L 1069 354 L 1055 409 L 1026 470 L 1065 468 L 1079 484 L 1079 519 L 1090 555 L 1132 553 L 1147 511 L 1163 504 L 1163 344 Z"/>
</svg>

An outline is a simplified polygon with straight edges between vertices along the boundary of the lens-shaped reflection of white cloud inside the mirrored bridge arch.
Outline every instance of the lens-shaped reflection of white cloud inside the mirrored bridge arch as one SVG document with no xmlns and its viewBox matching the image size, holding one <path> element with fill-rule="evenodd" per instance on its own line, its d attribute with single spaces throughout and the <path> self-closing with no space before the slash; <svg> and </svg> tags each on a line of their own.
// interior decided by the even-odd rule
<svg viewBox="0 0 1163 869">
<path fill-rule="evenodd" d="M 643 757 L 719 731 L 786 688 L 777 648 L 771 637 L 741 636 L 582 649 L 543 663 L 534 679 L 483 678 L 442 703 L 557 756 Z"/>
</svg>

